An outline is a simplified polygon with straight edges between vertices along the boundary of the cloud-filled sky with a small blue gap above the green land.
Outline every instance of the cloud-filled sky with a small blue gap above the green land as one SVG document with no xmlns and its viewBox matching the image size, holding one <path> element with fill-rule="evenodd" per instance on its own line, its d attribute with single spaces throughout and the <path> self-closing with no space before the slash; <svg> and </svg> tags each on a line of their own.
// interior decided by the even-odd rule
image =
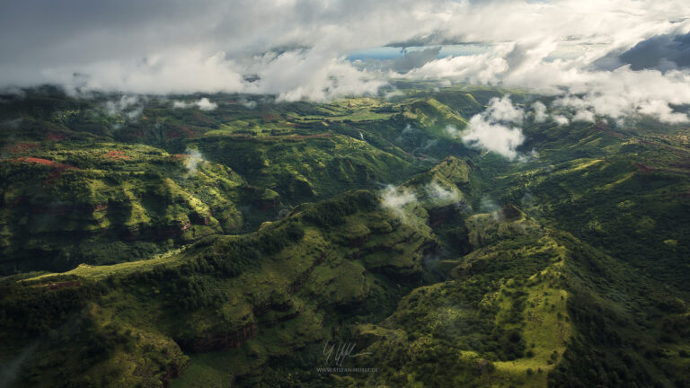
<svg viewBox="0 0 690 388">
<path fill-rule="evenodd" d="M 5 1 L 0 87 L 329 101 L 406 78 L 683 123 L 689 31 L 686 0 Z"/>
</svg>

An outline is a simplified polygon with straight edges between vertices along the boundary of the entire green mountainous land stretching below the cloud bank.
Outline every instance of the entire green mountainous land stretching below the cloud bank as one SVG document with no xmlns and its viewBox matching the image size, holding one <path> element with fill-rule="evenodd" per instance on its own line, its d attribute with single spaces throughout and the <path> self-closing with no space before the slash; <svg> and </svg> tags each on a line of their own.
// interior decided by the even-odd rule
<svg viewBox="0 0 690 388">
<path fill-rule="evenodd" d="M 686 128 L 527 114 L 511 162 L 448 126 L 546 99 L 430 85 L 3 96 L 0 385 L 690 386 Z"/>
</svg>

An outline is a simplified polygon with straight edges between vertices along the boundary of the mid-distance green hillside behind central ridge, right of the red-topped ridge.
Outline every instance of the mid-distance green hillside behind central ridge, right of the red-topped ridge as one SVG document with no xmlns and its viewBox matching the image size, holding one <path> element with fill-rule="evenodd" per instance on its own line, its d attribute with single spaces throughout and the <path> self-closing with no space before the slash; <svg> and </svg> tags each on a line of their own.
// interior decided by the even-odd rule
<svg viewBox="0 0 690 388">
<path fill-rule="evenodd" d="M 358 138 L 323 132 L 272 137 L 207 136 L 190 140 L 202 154 L 231 166 L 253 185 L 280 193 L 288 203 L 329 198 L 342 190 L 372 188 L 418 170 Z"/>
</svg>

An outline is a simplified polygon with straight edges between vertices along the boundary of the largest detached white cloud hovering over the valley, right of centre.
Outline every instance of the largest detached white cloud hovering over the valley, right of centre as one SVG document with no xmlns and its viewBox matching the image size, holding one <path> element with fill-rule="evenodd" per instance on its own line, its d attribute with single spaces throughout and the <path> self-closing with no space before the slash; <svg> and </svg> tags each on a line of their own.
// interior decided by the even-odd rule
<svg viewBox="0 0 690 388">
<path fill-rule="evenodd" d="M 509 97 L 493 98 L 489 108 L 470 119 L 462 137 L 463 142 L 473 147 L 501 154 L 515 159 L 516 148 L 525 141 L 522 129 L 509 123 L 521 123 L 525 112 L 517 109 Z"/>
</svg>

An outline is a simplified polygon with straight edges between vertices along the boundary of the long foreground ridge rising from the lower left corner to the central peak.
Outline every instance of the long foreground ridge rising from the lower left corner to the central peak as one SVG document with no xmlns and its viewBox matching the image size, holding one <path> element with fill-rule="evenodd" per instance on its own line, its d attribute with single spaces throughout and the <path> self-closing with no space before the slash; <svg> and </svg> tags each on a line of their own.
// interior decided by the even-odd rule
<svg viewBox="0 0 690 388">
<path fill-rule="evenodd" d="M 192 378 L 232 381 L 328 338 L 348 314 L 381 316 L 437 243 L 429 227 L 353 192 L 154 261 L 5 284 L 2 355 L 37 339 L 25 386 L 159 386 L 184 371 L 185 354 Z M 231 370 L 205 361 L 217 351 Z"/>
</svg>

